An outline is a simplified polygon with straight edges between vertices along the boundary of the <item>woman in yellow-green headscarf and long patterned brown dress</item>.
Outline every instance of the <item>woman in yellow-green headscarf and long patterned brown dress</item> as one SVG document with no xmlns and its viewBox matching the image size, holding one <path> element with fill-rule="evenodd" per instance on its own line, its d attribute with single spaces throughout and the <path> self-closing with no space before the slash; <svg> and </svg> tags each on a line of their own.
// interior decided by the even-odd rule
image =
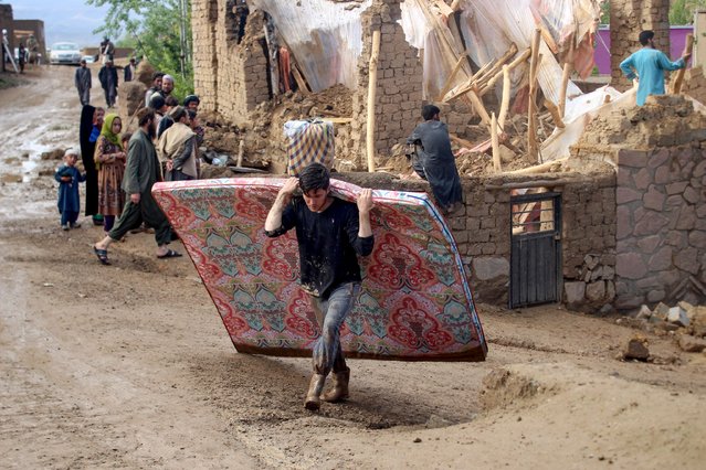
<svg viewBox="0 0 706 470">
<path fill-rule="evenodd" d="M 122 184 L 127 154 L 120 142 L 120 130 L 123 130 L 120 118 L 114 114 L 107 115 L 96 141 L 98 210 L 103 214 L 103 228 L 106 233 L 110 232 L 115 217 L 123 213 L 125 205 Z"/>
</svg>

